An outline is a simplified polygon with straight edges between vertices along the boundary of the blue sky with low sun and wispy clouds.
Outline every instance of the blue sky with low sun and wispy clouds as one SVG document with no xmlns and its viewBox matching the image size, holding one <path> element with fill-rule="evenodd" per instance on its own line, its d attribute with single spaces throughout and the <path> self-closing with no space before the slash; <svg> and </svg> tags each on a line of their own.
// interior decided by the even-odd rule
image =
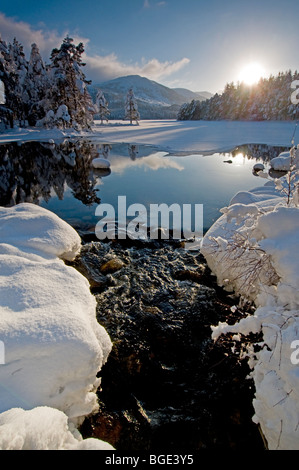
<svg viewBox="0 0 299 470">
<path fill-rule="evenodd" d="M 141 75 L 216 93 L 252 62 L 265 77 L 297 70 L 298 18 L 298 0 L 1 0 L 0 34 L 45 62 L 67 34 L 82 41 L 94 84 Z"/>
</svg>

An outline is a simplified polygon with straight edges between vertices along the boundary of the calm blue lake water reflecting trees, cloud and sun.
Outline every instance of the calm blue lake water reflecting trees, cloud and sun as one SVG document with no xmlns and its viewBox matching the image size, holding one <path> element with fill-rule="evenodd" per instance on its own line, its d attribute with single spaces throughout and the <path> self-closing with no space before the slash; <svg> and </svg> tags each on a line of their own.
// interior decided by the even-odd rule
<svg viewBox="0 0 299 470">
<path fill-rule="evenodd" d="M 79 231 L 93 231 L 100 203 L 117 215 L 118 197 L 127 206 L 203 204 L 209 228 L 238 192 L 263 186 L 253 174 L 256 161 L 268 169 L 285 148 L 246 145 L 225 154 L 168 155 L 153 146 L 103 144 L 92 140 L 25 142 L 0 145 L 0 205 L 31 202 L 45 207 Z M 92 160 L 107 158 L 110 169 L 96 170 Z"/>
</svg>

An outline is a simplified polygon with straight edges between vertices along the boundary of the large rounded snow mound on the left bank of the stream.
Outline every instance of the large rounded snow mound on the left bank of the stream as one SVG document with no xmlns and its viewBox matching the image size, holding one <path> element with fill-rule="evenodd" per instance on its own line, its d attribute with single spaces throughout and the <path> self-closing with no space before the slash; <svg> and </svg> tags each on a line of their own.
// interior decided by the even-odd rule
<svg viewBox="0 0 299 470">
<path fill-rule="evenodd" d="M 45 406 L 78 425 L 97 410 L 97 373 L 111 341 L 96 320 L 88 281 L 63 261 L 80 247 L 75 230 L 46 209 L 0 208 L 1 413 Z"/>
</svg>

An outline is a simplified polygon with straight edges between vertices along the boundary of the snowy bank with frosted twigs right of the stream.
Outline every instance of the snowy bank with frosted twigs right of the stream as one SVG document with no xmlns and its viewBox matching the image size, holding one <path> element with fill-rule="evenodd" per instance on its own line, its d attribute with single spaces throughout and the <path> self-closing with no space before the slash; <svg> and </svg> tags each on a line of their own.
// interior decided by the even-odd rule
<svg viewBox="0 0 299 470">
<path fill-rule="evenodd" d="M 284 177 L 287 178 L 287 177 Z M 283 186 L 283 181 L 280 186 Z M 254 315 L 221 334 L 262 333 L 258 351 L 248 349 L 255 384 L 253 420 L 269 449 L 299 449 L 299 207 L 273 183 L 241 192 L 203 239 L 202 253 L 218 283 L 255 304 Z"/>
</svg>

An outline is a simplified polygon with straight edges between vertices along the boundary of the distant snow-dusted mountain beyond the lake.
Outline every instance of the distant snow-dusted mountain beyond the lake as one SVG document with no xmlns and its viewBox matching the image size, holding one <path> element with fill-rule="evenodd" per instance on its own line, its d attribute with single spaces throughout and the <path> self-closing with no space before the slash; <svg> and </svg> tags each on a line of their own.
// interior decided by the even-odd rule
<svg viewBox="0 0 299 470">
<path fill-rule="evenodd" d="M 128 90 L 132 88 L 141 119 L 176 119 L 182 104 L 190 100 L 205 100 L 206 97 L 184 88 L 168 88 L 139 75 L 115 78 L 89 87 L 93 100 L 97 90 L 105 95 L 111 111 L 111 119 L 124 117 L 124 105 Z"/>
</svg>

